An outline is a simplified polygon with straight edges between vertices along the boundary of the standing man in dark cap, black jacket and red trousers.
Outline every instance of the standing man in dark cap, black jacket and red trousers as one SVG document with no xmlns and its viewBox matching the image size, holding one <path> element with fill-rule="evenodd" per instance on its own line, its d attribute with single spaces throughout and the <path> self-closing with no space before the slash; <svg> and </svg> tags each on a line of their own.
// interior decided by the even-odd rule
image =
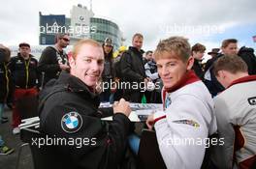
<svg viewBox="0 0 256 169">
<path fill-rule="evenodd" d="M 15 86 L 12 124 L 14 134 L 19 133 L 18 125 L 21 123 L 21 115 L 25 115 L 26 111 L 28 111 L 26 109 L 21 110 L 18 107 L 18 105 L 21 105 L 20 101 L 30 97 L 36 98 L 39 87 L 38 61 L 30 54 L 30 44 L 21 42 L 18 47 L 17 56 L 12 57 L 9 64 Z M 29 104 L 29 102 L 26 104 Z"/>
</svg>

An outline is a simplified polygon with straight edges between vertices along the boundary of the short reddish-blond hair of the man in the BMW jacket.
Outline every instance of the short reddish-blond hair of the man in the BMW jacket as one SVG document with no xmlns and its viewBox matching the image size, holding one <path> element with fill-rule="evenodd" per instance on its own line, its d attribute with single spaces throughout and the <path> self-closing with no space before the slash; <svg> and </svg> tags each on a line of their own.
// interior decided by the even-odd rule
<svg viewBox="0 0 256 169">
<path fill-rule="evenodd" d="M 83 44 L 89 44 L 89 45 L 92 45 L 92 46 L 95 46 L 95 47 L 100 47 L 102 48 L 101 44 L 99 42 L 96 42 L 94 40 L 91 40 L 91 39 L 87 39 L 87 40 L 80 40 L 79 42 L 77 42 L 74 47 L 73 47 L 73 51 L 72 51 L 72 57 L 74 59 L 77 58 L 77 55 L 80 51 L 80 47 L 83 45 Z"/>
</svg>

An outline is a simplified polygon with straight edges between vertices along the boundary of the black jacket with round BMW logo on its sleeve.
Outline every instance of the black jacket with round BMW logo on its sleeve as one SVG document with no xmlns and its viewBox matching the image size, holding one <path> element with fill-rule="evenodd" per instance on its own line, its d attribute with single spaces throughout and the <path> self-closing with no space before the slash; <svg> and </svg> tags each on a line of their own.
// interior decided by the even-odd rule
<svg viewBox="0 0 256 169">
<path fill-rule="evenodd" d="M 98 109 L 99 103 L 98 95 L 79 78 L 65 71 L 57 80 L 48 82 L 40 94 L 42 132 L 55 138 L 89 140 L 87 145 L 81 146 L 57 145 L 54 163 L 58 168 L 114 169 L 121 162 L 130 121 L 121 113 L 114 114 L 110 124 L 101 121 L 102 117 L 112 115 L 112 108 L 105 112 Z M 65 118 L 72 114 L 77 124 L 69 127 Z"/>
</svg>

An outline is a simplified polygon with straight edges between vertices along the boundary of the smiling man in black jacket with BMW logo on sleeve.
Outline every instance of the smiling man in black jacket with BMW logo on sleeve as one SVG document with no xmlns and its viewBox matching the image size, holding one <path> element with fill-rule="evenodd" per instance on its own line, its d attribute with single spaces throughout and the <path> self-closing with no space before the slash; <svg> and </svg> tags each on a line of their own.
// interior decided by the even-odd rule
<svg viewBox="0 0 256 169">
<path fill-rule="evenodd" d="M 62 169 L 115 169 L 122 162 L 126 149 L 129 102 L 120 99 L 107 112 L 98 109 L 100 99 L 96 85 L 104 69 L 104 53 L 98 42 L 78 42 L 70 67 L 70 73 L 62 71 L 57 80 L 46 85 L 40 96 L 42 131 L 51 137 L 77 143 L 56 143 L 51 168 L 56 165 Z M 102 117 L 110 115 L 111 124 L 101 121 Z"/>
</svg>

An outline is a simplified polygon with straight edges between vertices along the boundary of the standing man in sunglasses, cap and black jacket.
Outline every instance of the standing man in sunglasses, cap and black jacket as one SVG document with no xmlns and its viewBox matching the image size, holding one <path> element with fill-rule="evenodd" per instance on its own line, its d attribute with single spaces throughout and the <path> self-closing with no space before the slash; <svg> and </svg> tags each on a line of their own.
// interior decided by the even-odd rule
<svg viewBox="0 0 256 169">
<path fill-rule="evenodd" d="M 57 34 L 55 45 L 48 46 L 41 55 L 38 69 L 42 72 L 42 87 L 52 78 L 58 78 L 61 70 L 69 70 L 68 57 L 63 48 L 70 42 L 68 34 Z"/>
</svg>

